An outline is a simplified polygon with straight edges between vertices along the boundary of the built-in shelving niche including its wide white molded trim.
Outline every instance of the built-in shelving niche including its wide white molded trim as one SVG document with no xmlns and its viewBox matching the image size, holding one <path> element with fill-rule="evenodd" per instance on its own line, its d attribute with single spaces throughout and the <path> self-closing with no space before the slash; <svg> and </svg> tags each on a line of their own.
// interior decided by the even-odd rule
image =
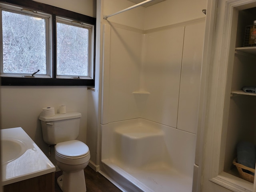
<svg viewBox="0 0 256 192">
<path fill-rule="evenodd" d="M 203 166 L 197 187 L 207 192 L 256 192 L 256 182 L 240 175 L 234 162 L 240 141 L 256 146 L 256 94 L 243 91 L 256 87 L 256 46 L 248 44 L 247 36 L 247 26 L 256 20 L 256 0 L 209 2 L 203 55 L 208 66 L 202 71 L 209 66 L 211 70 L 209 78 L 206 73 L 208 84 L 203 84 L 207 88 L 202 89 L 208 94 L 206 110 L 199 118 L 202 124 L 198 121 L 205 134 L 200 138 Z"/>
</svg>

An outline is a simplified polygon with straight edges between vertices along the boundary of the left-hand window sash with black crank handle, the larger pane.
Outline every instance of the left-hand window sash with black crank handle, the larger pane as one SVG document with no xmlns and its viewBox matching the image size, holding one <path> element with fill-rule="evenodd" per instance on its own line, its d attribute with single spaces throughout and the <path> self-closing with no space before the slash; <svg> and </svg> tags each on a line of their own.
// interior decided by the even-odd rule
<svg viewBox="0 0 256 192">
<path fill-rule="evenodd" d="M 50 18 L 2 9 L 2 76 L 29 75 L 40 69 L 38 74 L 50 77 L 46 67 L 50 63 L 46 43 Z"/>
</svg>

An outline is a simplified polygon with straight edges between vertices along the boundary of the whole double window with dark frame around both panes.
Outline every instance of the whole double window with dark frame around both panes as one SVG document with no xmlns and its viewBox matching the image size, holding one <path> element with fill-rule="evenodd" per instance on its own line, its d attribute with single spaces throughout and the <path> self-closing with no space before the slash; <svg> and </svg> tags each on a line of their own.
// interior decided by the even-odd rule
<svg viewBox="0 0 256 192">
<path fill-rule="evenodd" d="M 96 19 L 32 0 L 11 2 L 0 0 L 2 85 L 93 86 Z"/>
</svg>

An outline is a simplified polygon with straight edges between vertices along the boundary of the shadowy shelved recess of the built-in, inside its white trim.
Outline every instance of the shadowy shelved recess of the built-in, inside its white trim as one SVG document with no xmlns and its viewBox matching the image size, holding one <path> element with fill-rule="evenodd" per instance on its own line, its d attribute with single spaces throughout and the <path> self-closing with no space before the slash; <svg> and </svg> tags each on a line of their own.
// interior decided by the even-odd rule
<svg viewBox="0 0 256 192">
<path fill-rule="evenodd" d="M 244 47 L 244 36 L 246 26 L 256 20 L 256 8 L 240 10 L 238 13 L 238 25 L 236 31 L 236 48 L 234 48 L 234 62 L 230 62 L 228 79 L 230 79 L 231 97 L 228 108 L 226 149 L 224 160 L 224 172 L 240 177 L 232 160 L 236 158 L 236 146 L 240 141 L 248 141 L 256 145 L 256 94 L 247 93 L 242 90 L 243 87 L 256 87 L 256 46 Z M 232 58 L 232 56 L 230 56 Z M 230 176 L 230 178 L 232 178 Z M 231 179 L 236 180 L 234 178 Z M 248 191 L 252 191 L 252 184 L 246 180 L 240 180 L 240 186 L 246 186 Z M 237 191 L 238 186 L 235 186 Z"/>
</svg>

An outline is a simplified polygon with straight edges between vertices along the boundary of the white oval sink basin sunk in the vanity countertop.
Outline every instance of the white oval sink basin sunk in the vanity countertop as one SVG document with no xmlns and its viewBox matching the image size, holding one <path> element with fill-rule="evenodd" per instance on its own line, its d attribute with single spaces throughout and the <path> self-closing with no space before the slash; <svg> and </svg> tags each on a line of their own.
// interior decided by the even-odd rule
<svg viewBox="0 0 256 192">
<path fill-rule="evenodd" d="M 25 152 L 25 143 L 14 138 L 4 137 L 1 139 L 2 164 L 15 160 Z"/>
</svg>

